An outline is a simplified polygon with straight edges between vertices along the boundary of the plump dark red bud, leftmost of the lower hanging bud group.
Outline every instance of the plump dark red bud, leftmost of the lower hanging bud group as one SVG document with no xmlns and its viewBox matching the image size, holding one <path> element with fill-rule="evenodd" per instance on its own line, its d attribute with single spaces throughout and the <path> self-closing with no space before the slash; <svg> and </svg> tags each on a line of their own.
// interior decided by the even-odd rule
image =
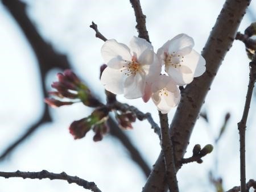
<svg viewBox="0 0 256 192">
<path fill-rule="evenodd" d="M 91 127 L 92 124 L 90 123 L 89 119 L 83 118 L 80 120 L 75 120 L 73 123 L 71 123 L 69 126 L 69 132 L 71 135 L 73 135 L 74 139 L 81 139 L 88 131 L 90 131 Z"/>
</svg>

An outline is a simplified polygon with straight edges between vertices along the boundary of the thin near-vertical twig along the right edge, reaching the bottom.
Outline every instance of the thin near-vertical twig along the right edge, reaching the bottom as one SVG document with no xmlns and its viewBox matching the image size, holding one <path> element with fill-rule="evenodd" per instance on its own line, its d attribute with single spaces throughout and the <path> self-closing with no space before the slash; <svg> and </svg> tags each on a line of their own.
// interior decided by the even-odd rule
<svg viewBox="0 0 256 192">
<path fill-rule="evenodd" d="M 256 80 L 256 54 L 253 55 L 253 60 L 250 62 L 250 75 L 249 85 L 246 94 L 245 108 L 241 121 L 237 124 L 240 135 L 240 181 L 241 192 L 246 192 L 246 174 L 245 174 L 245 130 L 247 116 L 249 114 L 251 96 L 253 95 L 254 83 Z"/>
</svg>

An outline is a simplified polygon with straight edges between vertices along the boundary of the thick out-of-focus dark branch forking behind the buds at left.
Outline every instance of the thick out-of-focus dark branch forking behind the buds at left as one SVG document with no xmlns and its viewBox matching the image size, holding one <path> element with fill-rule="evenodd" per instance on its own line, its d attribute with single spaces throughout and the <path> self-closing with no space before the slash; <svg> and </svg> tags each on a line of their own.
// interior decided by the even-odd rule
<svg viewBox="0 0 256 192">
<path fill-rule="evenodd" d="M 6 6 L 7 10 L 10 11 L 11 15 L 14 17 L 16 22 L 19 24 L 19 27 L 22 29 L 24 35 L 26 36 L 28 42 L 30 43 L 32 49 L 35 52 L 36 59 L 38 60 L 38 66 L 40 69 L 40 83 L 43 89 L 42 93 L 44 98 L 47 97 L 46 89 L 46 75 L 47 73 L 55 68 L 61 70 L 72 68 L 72 65 L 69 63 L 67 56 L 57 53 L 55 49 L 40 36 L 38 30 L 36 30 L 34 24 L 31 22 L 30 18 L 26 13 L 26 4 L 14 0 L 2 0 L 3 5 Z M 43 102 L 43 101 L 42 101 Z M 138 149 L 131 143 L 129 137 L 118 127 L 117 123 L 109 118 L 110 134 L 117 138 L 123 146 L 127 149 L 130 154 L 131 159 L 137 164 L 143 171 L 145 176 L 148 176 L 150 173 L 150 168 L 147 165 L 146 161 L 142 157 Z M 0 156 L 0 160 L 3 160 L 7 155 L 10 155 L 24 140 L 31 136 L 42 124 L 52 122 L 52 118 L 49 115 L 49 110 L 44 103 L 44 111 L 38 122 L 33 124 L 30 128 L 23 133 L 21 137 L 15 140 L 13 143 L 7 147 Z"/>
</svg>

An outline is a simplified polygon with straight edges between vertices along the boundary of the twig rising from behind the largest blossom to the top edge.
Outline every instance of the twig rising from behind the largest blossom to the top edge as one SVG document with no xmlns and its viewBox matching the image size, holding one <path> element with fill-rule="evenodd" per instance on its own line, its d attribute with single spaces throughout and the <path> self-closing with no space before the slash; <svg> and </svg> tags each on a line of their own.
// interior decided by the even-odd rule
<svg viewBox="0 0 256 192">
<path fill-rule="evenodd" d="M 146 28 L 146 15 L 144 15 L 142 12 L 141 3 L 139 2 L 139 0 L 130 0 L 130 3 L 134 9 L 137 22 L 136 28 L 138 30 L 139 37 L 146 39 L 150 43 L 150 39 Z"/>
</svg>

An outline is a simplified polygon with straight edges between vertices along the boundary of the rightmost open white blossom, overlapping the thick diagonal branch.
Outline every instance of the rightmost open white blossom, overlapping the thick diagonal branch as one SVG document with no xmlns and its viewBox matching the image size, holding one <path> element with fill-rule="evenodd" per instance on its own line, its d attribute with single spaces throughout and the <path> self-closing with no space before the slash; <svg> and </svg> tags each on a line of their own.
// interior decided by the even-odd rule
<svg viewBox="0 0 256 192">
<path fill-rule="evenodd" d="M 205 60 L 193 46 L 192 37 L 179 34 L 158 49 L 160 61 L 177 85 L 187 85 L 205 72 Z"/>
</svg>

